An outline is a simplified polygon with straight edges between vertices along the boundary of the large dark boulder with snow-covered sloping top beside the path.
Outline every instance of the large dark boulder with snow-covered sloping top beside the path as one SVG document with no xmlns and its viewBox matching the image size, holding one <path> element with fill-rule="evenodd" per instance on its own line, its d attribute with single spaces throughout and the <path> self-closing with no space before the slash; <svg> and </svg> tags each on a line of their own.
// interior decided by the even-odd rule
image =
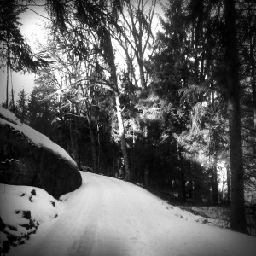
<svg viewBox="0 0 256 256">
<path fill-rule="evenodd" d="M 0 179 L 1 183 L 45 189 L 55 198 L 82 183 L 78 166 L 67 151 L 2 107 Z"/>
</svg>

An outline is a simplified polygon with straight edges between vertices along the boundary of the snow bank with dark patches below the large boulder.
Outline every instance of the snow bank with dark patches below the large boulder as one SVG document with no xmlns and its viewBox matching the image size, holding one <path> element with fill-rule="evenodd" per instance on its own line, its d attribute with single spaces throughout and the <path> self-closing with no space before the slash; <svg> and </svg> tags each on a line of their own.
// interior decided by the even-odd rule
<svg viewBox="0 0 256 256">
<path fill-rule="evenodd" d="M 61 202 L 44 189 L 30 186 L 0 184 L 1 229 L 0 251 L 24 243 L 38 229 L 39 224 L 57 218 L 61 212 Z"/>
</svg>

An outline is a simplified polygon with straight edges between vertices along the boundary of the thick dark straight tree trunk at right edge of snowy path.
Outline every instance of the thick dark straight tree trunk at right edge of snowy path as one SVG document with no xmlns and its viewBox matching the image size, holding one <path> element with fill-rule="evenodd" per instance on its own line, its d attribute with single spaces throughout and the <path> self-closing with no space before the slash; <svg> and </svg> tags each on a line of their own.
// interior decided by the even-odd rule
<svg viewBox="0 0 256 256">
<path fill-rule="evenodd" d="M 247 221 L 244 207 L 243 164 L 241 151 L 241 113 L 239 95 L 239 71 L 236 46 L 235 1 L 225 0 L 226 25 L 226 83 L 229 91 L 228 116 L 230 137 L 231 170 L 231 222 L 232 230 L 247 233 Z"/>
</svg>

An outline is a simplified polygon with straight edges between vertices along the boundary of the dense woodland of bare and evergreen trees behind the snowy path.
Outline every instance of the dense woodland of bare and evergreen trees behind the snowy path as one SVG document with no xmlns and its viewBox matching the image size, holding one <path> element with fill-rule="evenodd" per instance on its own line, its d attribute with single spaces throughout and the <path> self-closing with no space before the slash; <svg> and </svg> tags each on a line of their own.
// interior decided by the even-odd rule
<svg viewBox="0 0 256 256">
<path fill-rule="evenodd" d="M 247 232 L 256 189 L 255 1 L 47 0 L 47 44 L 38 52 L 19 28 L 33 4 L 1 0 L 1 68 L 7 78 L 38 75 L 17 101 L 7 79 L 3 107 L 65 148 L 80 170 L 183 202 L 231 203 L 231 228 Z"/>
</svg>

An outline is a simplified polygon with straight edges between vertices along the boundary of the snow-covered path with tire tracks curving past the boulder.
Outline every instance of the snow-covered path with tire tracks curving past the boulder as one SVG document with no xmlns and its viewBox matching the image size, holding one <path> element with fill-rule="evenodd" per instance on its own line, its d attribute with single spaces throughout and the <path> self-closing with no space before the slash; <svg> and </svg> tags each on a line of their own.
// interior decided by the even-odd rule
<svg viewBox="0 0 256 256">
<path fill-rule="evenodd" d="M 255 237 L 196 223 L 131 183 L 81 174 L 83 185 L 62 197 L 61 215 L 9 255 L 255 255 Z"/>
</svg>

